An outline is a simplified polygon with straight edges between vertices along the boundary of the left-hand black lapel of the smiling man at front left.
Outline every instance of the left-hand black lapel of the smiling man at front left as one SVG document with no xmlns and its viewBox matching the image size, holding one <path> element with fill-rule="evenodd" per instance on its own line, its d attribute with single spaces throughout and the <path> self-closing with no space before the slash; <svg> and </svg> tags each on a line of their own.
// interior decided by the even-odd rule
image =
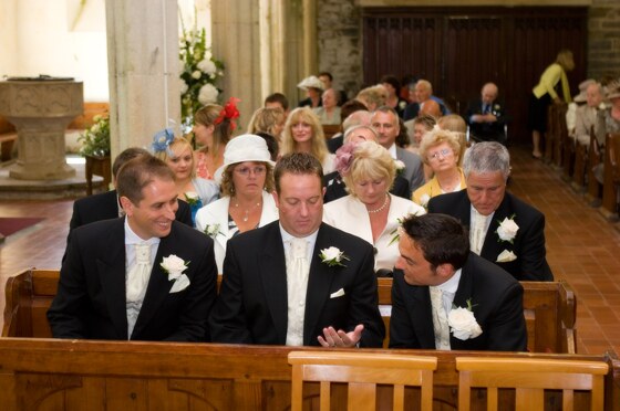
<svg viewBox="0 0 620 411">
<path fill-rule="evenodd" d="M 116 198 L 116 196 L 114 196 Z M 106 244 L 113 244 L 104 259 L 97 259 L 96 272 L 116 333 L 127 339 L 127 310 L 125 304 L 125 230 L 124 220 L 114 222 Z"/>
</svg>

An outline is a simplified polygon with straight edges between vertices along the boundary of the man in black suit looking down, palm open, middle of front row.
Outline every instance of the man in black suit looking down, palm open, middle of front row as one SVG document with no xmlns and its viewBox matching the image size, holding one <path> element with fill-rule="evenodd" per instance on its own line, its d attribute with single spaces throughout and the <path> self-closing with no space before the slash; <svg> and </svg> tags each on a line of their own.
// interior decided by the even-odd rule
<svg viewBox="0 0 620 411">
<path fill-rule="evenodd" d="M 276 165 L 280 219 L 228 241 L 214 342 L 382 346 L 372 246 L 322 223 L 321 179 L 308 154 Z"/>
</svg>

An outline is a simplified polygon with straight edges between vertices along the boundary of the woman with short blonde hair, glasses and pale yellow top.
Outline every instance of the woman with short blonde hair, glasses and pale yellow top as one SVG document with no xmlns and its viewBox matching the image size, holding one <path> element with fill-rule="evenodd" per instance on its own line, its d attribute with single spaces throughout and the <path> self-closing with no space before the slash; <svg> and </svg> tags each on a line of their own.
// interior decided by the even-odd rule
<svg viewBox="0 0 620 411">
<path fill-rule="evenodd" d="M 459 191 L 467 187 L 465 175 L 458 167 L 459 137 L 456 133 L 434 129 L 422 138 L 420 157 L 431 167 L 434 177 L 413 192 L 413 201 L 424 208 L 432 197 Z"/>
</svg>

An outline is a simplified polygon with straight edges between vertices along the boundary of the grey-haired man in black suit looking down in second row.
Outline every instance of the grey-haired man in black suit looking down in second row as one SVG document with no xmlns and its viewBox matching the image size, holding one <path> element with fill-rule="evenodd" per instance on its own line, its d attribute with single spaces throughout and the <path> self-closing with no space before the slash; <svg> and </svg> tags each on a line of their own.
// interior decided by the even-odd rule
<svg viewBox="0 0 620 411">
<path fill-rule="evenodd" d="M 506 192 L 510 155 L 497 141 L 465 152 L 467 188 L 432 198 L 428 212 L 450 214 L 469 230 L 472 251 L 518 281 L 552 281 L 546 260 L 545 215 Z"/>
</svg>

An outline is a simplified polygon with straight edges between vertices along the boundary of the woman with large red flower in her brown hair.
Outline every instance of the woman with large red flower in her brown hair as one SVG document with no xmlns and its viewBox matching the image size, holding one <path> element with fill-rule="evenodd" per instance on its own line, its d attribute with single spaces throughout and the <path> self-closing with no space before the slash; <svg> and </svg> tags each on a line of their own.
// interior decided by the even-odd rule
<svg viewBox="0 0 620 411">
<path fill-rule="evenodd" d="M 196 150 L 196 173 L 213 179 L 215 170 L 224 164 L 224 149 L 237 127 L 239 117 L 238 98 L 230 97 L 223 107 L 207 104 L 194 115 L 194 138 Z"/>
</svg>

